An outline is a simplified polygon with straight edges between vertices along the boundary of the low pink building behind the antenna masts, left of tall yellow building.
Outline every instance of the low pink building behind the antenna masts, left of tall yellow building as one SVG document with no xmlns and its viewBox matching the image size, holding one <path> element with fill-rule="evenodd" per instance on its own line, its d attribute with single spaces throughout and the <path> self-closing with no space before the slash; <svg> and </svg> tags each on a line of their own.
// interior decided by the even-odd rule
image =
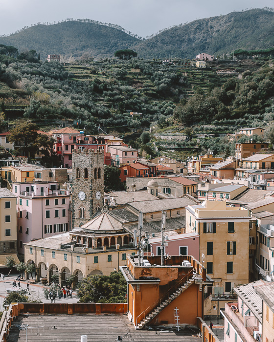
<svg viewBox="0 0 274 342">
<path fill-rule="evenodd" d="M 185 233 L 168 236 L 165 241 L 168 246 L 165 247 L 165 254 L 170 256 L 194 256 L 199 260 L 199 235 L 196 233 Z M 161 238 L 155 237 L 149 239 L 151 253 L 155 256 L 161 255 Z"/>
</svg>

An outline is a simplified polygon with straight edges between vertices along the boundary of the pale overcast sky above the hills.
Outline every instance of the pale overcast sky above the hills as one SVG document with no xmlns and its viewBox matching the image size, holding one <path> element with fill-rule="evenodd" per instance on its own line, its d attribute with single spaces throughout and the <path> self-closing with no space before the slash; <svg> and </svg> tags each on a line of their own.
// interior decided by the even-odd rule
<svg viewBox="0 0 274 342">
<path fill-rule="evenodd" d="M 37 22 L 92 19 L 111 22 L 142 37 L 186 21 L 252 7 L 273 7 L 273 0 L 0 0 L 0 35 Z"/>
</svg>

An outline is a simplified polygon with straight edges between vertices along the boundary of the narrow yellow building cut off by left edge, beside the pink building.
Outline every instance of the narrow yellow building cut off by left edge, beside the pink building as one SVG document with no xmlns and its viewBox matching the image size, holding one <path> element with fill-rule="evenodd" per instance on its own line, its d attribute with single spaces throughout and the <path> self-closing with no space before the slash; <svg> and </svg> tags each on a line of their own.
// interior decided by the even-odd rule
<svg viewBox="0 0 274 342">
<path fill-rule="evenodd" d="M 0 188 L 0 253 L 17 251 L 16 231 L 17 196 L 5 188 Z"/>
</svg>

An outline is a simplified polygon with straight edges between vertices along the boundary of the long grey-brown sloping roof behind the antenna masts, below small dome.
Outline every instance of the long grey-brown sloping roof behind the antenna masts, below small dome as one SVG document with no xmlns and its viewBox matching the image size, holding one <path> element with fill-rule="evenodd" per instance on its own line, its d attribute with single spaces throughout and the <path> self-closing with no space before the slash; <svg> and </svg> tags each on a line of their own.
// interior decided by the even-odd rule
<svg viewBox="0 0 274 342">
<path fill-rule="evenodd" d="M 176 208 L 186 207 L 188 205 L 195 205 L 197 202 L 189 197 L 155 199 L 152 201 L 132 202 L 127 205 L 133 209 L 143 213 L 153 213 L 162 210 L 171 210 Z"/>
</svg>

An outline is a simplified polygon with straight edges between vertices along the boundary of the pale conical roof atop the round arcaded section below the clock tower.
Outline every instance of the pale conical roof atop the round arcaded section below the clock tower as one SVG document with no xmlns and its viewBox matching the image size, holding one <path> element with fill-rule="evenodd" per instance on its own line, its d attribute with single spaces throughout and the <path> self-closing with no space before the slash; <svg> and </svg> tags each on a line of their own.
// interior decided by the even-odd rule
<svg viewBox="0 0 274 342">
<path fill-rule="evenodd" d="M 121 223 L 108 213 L 102 213 L 94 217 L 91 221 L 82 225 L 81 228 L 101 232 L 123 230 Z"/>
</svg>

